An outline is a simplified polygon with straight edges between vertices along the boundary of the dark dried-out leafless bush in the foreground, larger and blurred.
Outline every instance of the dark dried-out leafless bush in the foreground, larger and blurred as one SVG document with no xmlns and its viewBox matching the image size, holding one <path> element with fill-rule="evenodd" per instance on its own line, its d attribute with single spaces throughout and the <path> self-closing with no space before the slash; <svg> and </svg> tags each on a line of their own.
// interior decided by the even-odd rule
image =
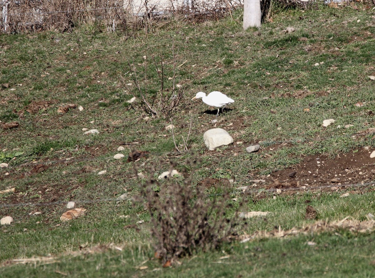
<svg viewBox="0 0 375 278">
<path fill-rule="evenodd" d="M 194 158 L 185 166 L 196 163 Z M 139 182 L 139 200 L 150 213 L 156 252 L 164 260 L 215 249 L 229 241 L 239 227 L 236 209 L 231 205 L 231 188 L 219 186 L 216 194 L 207 195 L 207 188 L 193 185 L 193 173 L 186 167 L 181 171 L 183 178 L 168 177 L 163 182 L 155 178 L 151 167 L 147 181 Z M 170 171 L 174 168 L 171 163 Z"/>
</svg>

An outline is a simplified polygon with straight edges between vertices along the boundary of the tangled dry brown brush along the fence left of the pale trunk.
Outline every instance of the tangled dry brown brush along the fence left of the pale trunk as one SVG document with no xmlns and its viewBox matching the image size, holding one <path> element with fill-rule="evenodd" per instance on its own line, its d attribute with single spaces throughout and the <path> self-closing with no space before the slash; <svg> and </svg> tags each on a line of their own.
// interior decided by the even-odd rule
<svg viewBox="0 0 375 278">
<path fill-rule="evenodd" d="M 238 6 L 243 6 L 243 0 L 0 0 L 0 30 L 66 31 L 99 22 L 115 31 L 153 18 L 218 14 Z"/>
</svg>

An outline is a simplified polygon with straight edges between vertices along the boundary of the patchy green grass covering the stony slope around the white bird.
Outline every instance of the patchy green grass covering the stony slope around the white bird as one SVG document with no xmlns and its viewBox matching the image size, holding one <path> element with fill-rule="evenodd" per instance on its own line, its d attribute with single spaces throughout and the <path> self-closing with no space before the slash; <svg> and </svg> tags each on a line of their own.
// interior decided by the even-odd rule
<svg viewBox="0 0 375 278">
<path fill-rule="evenodd" d="M 139 161 L 144 175 L 153 161 L 164 160 L 157 173 L 169 169 L 168 160 L 175 161 L 178 169 L 183 167 L 190 152 L 178 154 L 172 132 L 165 127 L 175 125 L 174 139 L 183 150 L 182 138 L 187 139 L 190 117 L 192 128 L 186 145 L 201 159 L 194 169 L 193 185 L 208 177 L 233 177 L 234 186 L 242 187 L 250 185 L 249 179 L 291 167 L 306 155 L 334 157 L 364 146 L 374 148 L 373 135 L 353 137 L 375 124 L 374 116 L 368 114 L 375 109 L 374 81 L 368 78 L 374 75 L 372 16 L 371 10 L 362 9 L 279 10 L 273 22 L 262 25 L 260 36 L 254 36 L 254 30 L 242 30 L 240 11 L 234 12 L 233 19 L 187 23 L 177 29 L 179 24 L 172 22 L 130 37 L 87 26 L 62 34 L 1 34 L 1 45 L 6 48 L 0 52 L 4 61 L 0 84 L 9 83 L 9 88 L 0 91 L 0 121 L 18 121 L 20 127 L 0 129 L 0 163 L 9 164 L 9 168 L 0 169 L 0 190 L 16 188 L 13 194 L 0 195 L 0 217 L 11 215 L 15 219 L 10 226 L 0 226 L 0 263 L 48 254 L 57 256 L 58 262 L 5 266 L 0 268 L 0 276 L 61 275 L 55 271 L 69 277 L 124 273 L 132 277 L 201 277 L 209 273 L 214 277 L 374 276 L 374 235 L 347 231 L 234 242 L 223 245 L 225 253 L 198 252 L 197 257 L 181 259 L 182 265 L 174 264 L 172 269 L 150 260 L 143 264 L 148 268 L 141 270 L 137 267 L 153 257 L 150 216 L 142 206 L 115 202 L 125 191 L 129 196 L 138 193 L 132 165 L 126 162 L 133 148 L 150 152 Z M 289 26 L 296 30 L 283 32 Z M 51 39 L 54 36 L 62 38 L 59 43 Z M 132 71 L 142 93 L 154 109 L 160 110 L 159 99 L 154 98 L 161 90 L 157 72 L 160 59 L 164 62 L 164 92 L 171 94 L 173 79 L 168 77 L 175 71 L 174 82 L 181 85 L 183 98 L 172 115 L 158 111 L 160 117 L 155 117 L 143 109 Z M 216 127 L 228 130 L 234 142 L 243 145 L 209 152 L 202 135 L 213 128 L 210 121 L 214 114 L 205 114 L 210 108 L 190 99 L 197 91 L 214 90 L 235 100 L 228 107 L 231 110 L 219 116 Z M 133 95 L 137 100 L 127 103 Z M 26 112 L 28 106 L 48 100 L 57 103 L 40 108 L 36 114 Z M 359 101 L 365 105 L 354 106 Z M 84 110 L 59 114 L 58 106 L 67 103 L 81 105 Z M 309 112 L 304 111 L 306 108 Z M 336 122 L 322 127 L 323 120 L 330 118 Z M 354 126 L 337 128 L 346 124 Z M 84 135 L 83 128 L 100 133 Z M 264 151 L 248 154 L 246 146 L 256 142 Z M 266 150 L 281 143 L 288 145 Z M 120 145 L 124 151 L 117 151 Z M 114 160 L 119 152 L 125 158 Z M 25 174 L 40 163 L 50 167 Z M 107 173 L 98 176 L 101 170 Z M 212 188 L 207 192 L 210 190 L 214 192 Z M 318 191 L 279 196 L 261 189 L 248 196 L 244 209 L 271 214 L 266 219 L 249 220 L 246 232 L 303 227 L 309 222 L 304 218 L 306 200 L 320 220 L 347 216 L 366 220 L 368 213 L 375 214 L 374 193 L 371 187 L 362 193 L 347 198 L 340 198 L 342 193 Z M 255 195 L 264 199 L 257 200 Z M 234 190 L 232 197 L 241 199 L 243 195 Z M 70 200 L 87 208 L 87 213 L 61 223 L 59 217 Z M 138 224 L 141 220 L 145 222 Z M 124 229 L 133 224 L 139 230 Z M 317 245 L 308 246 L 307 241 Z M 80 246 L 111 242 L 123 246 L 123 251 L 105 249 L 69 256 Z M 219 259 L 226 255 L 230 257 Z M 215 263 L 218 261 L 222 263 Z M 150 272 L 155 268 L 158 270 Z"/>
</svg>

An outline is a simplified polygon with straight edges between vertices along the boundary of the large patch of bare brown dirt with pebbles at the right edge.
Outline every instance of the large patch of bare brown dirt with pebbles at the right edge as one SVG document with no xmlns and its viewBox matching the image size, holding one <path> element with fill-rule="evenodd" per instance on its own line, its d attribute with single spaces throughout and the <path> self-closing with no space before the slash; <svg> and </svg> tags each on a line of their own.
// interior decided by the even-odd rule
<svg viewBox="0 0 375 278">
<path fill-rule="evenodd" d="M 338 188 L 350 184 L 374 181 L 375 158 L 371 151 L 358 149 L 334 158 L 325 155 L 310 155 L 302 163 L 271 173 L 265 178 L 266 188 Z"/>
</svg>

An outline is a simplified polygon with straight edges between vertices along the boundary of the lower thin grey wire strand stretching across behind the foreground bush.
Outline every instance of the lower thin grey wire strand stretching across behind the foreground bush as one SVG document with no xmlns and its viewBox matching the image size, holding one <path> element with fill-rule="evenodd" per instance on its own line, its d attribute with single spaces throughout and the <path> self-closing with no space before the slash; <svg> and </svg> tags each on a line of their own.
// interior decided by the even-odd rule
<svg viewBox="0 0 375 278">
<path fill-rule="evenodd" d="M 242 190 L 240 188 L 235 188 L 236 190 L 239 190 L 240 192 L 232 192 L 232 194 L 234 193 L 243 193 L 243 194 L 249 194 L 249 193 L 260 193 L 260 192 L 268 192 L 268 193 L 273 193 L 275 191 L 277 191 L 278 189 L 282 191 L 306 191 L 307 192 L 311 192 L 311 191 L 317 191 L 317 190 L 321 190 L 321 189 L 326 189 L 326 188 L 341 188 L 341 189 L 345 189 L 345 188 L 350 188 L 350 187 L 365 187 L 365 186 L 368 186 L 368 185 L 375 185 L 375 181 L 371 181 L 371 182 L 365 182 L 365 183 L 362 183 L 362 182 L 358 182 L 358 183 L 352 183 L 352 184 L 326 184 L 326 185 L 321 185 L 321 186 L 318 186 L 318 187 L 309 187 L 309 188 L 303 188 L 303 187 L 289 187 L 289 188 L 270 188 L 270 189 L 263 189 L 263 188 L 258 188 L 258 189 L 252 189 L 252 190 Z M 249 185 L 250 187 L 250 185 Z M 213 196 L 221 196 L 222 194 L 208 194 L 206 197 L 213 197 Z M 100 203 L 100 202 L 111 202 L 111 201 L 116 201 L 116 202 L 124 202 L 124 201 L 129 201 L 131 200 L 131 198 L 129 199 L 120 199 L 119 197 L 117 198 L 105 198 L 105 199 L 95 199 L 95 200 L 89 200 L 89 199 L 86 199 L 86 200 L 72 200 L 74 201 L 75 203 L 77 204 L 80 204 L 80 203 Z M 55 202 L 47 202 L 47 203 L 16 203 L 16 204 L 0 204 L 0 208 L 10 208 L 10 207 L 27 207 L 27 206 L 50 206 L 50 205 L 61 205 L 61 204 L 66 204 L 70 201 L 55 201 Z"/>
</svg>

